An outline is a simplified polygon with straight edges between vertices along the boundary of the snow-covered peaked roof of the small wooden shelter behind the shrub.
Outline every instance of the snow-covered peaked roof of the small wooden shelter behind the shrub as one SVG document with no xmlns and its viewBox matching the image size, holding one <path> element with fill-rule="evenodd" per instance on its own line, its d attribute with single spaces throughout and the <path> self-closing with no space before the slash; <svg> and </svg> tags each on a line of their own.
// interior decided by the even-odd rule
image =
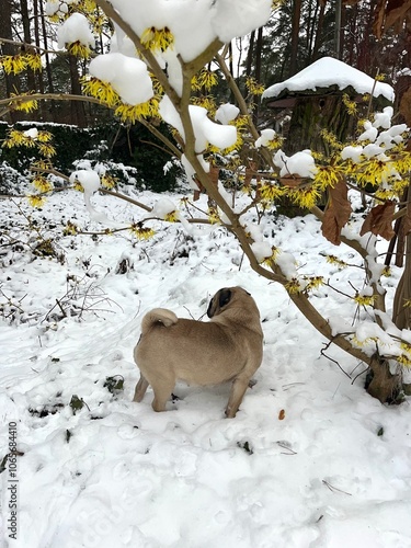
<svg viewBox="0 0 411 548">
<path fill-rule="evenodd" d="M 318 88 L 338 85 L 340 90 L 352 87 L 357 93 L 373 93 L 393 101 L 393 89 L 388 83 L 375 81 L 358 69 L 333 57 L 322 57 L 284 82 L 275 83 L 263 93 L 263 99 L 276 98 L 284 90 L 289 92 L 316 91 Z"/>
</svg>

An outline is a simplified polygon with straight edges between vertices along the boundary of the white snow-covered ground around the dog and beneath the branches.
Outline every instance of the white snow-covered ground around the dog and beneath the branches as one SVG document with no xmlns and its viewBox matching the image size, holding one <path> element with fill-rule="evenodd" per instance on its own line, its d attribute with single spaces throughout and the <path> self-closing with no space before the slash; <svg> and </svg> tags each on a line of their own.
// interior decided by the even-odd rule
<svg viewBox="0 0 411 548">
<path fill-rule="evenodd" d="M 158 196 L 138 198 L 152 205 Z M 117 221 L 140 218 L 124 202 L 93 202 Z M 326 351 L 332 359 L 321 355 L 321 336 L 222 228 L 187 236 L 180 224 L 158 224 L 147 241 L 59 236 L 59 262 L 27 251 L 38 235 L 28 241 L 23 213 L 43 238 L 61 235 L 68 219 L 95 228 L 82 195 L 58 193 L 42 210 L 16 204 L 0 208 L 1 228 L 22 241 L 0 247 L 0 458 L 14 433 L 19 452 L 16 478 L 11 460 L 1 473 L 4 546 L 411 547 L 409 401 L 381 406 L 364 391 L 364 376 L 355 379 L 362 365 L 335 347 Z M 304 272 L 362 287 L 359 269 L 339 271 L 320 255 L 357 261 L 328 243 L 313 217 L 270 215 L 264 231 Z M 398 277 L 387 279 L 389 294 Z M 232 285 L 253 295 L 265 339 L 236 419 L 224 418 L 228 386 L 179 385 L 164 413 L 152 411 L 150 389 L 134 403 L 144 313 L 161 306 L 197 319 Z M 323 287 L 313 299 L 328 316 L 352 319 L 343 295 Z M 124 378 L 124 388 L 112 393 L 107 377 Z M 73 396 L 84 403 L 76 412 Z M 16 540 L 8 522 L 14 494 Z"/>
</svg>

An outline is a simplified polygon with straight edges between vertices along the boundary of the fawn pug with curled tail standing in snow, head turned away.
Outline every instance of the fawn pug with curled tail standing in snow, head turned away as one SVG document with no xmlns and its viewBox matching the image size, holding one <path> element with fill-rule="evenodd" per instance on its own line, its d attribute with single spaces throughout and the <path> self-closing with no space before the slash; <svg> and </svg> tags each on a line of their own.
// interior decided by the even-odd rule
<svg viewBox="0 0 411 548">
<path fill-rule="evenodd" d="M 232 381 L 226 416 L 236 416 L 263 357 L 260 312 L 248 292 L 225 287 L 212 298 L 207 316 L 210 321 L 203 322 L 155 308 L 142 318 L 134 350 L 140 379 L 133 401 L 141 401 L 150 385 L 152 409 L 164 411 L 178 380 L 197 386 Z"/>
</svg>

